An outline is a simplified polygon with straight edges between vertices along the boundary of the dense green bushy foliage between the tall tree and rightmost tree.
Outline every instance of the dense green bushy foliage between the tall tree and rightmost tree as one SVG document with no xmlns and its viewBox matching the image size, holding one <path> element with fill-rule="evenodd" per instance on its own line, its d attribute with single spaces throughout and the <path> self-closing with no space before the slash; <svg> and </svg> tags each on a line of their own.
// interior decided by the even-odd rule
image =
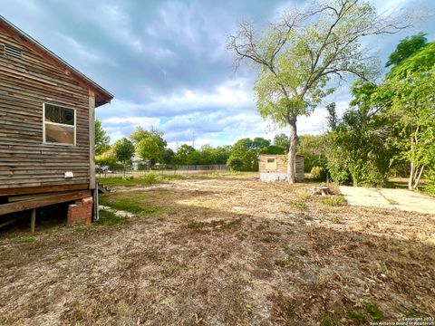
<svg viewBox="0 0 435 326">
<path fill-rule="evenodd" d="M 377 95 L 371 82 L 355 82 L 352 87 L 353 108 L 330 132 L 327 167 L 331 177 L 345 183 L 352 177 L 357 185 L 384 185 L 395 149 L 389 146 L 390 120 L 378 114 L 384 98 Z"/>
</svg>

